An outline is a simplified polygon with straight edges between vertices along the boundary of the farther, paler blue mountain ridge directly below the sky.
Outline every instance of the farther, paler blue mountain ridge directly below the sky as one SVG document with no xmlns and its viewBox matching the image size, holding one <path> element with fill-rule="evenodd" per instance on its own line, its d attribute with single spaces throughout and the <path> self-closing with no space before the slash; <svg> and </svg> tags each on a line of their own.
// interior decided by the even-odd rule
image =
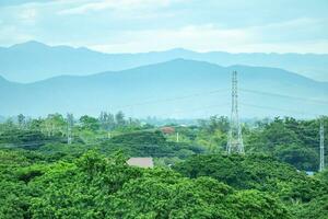
<svg viewBox="0 0 328 219">
<path fill-rule="evenodd" d="M 176 58 L 204 60 L 221 66 L 276 67 L 328 81 L 328 55 L 195 53 L 180 48 L 141 54 L 103 54 L 87 48 L 50 47 L 37 42 L 0 47 L 0 76 L 11 81 L 32 82 L 61 74 L 86 76 L 125 70 Z"/>
</svg>

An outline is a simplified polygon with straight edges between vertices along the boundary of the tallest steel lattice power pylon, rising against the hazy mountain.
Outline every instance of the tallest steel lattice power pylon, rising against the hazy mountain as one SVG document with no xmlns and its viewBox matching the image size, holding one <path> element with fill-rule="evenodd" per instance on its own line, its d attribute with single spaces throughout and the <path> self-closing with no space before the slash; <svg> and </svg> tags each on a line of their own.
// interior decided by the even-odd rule
<svg viewBox="0 0 328 219">
<path fill-rule="evenodd" d="M 242 127 L 238 117 L 238 90 L 237 90 L 237 71 L 232 73 L 232 108 L 230 118 L 230 130 L 227 136 L 226 151 L 231 153 L 244 154 L 244 142 Z"/>
</svg>

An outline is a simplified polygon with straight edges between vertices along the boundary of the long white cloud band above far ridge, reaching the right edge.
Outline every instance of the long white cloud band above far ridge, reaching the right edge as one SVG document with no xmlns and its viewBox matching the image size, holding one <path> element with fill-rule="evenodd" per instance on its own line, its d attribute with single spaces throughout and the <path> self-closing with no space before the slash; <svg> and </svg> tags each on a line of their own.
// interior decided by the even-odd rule
<svg viewBox="0 0 328 219">
<path fill-rule="evenodd" d="M 285 27 L 289 24 L 281 26 Z M 274 28 L 278 24 L 274 25 Z M 266 39 L 268 26 L 250 28 L 219 28 L 213 24 L 188 25 L 176 30 L 147 30 L 121 32 L 108 44 L 90 44 L 105 53 L 139 53 L 184 47 L 198 51 L 223 50 L 230 53 L 327 53 L 328 39 L 279 42 Z M 280 27 L 279 27 L 280 28 Z M 274 30 L 276 31 L 276 30 Z M 293 32 L 293 30 L 290 30 Z M 277 33 L 279 35 L 279 32 Z M 290 32 L 285 33 L 286 35 Z M 284 35 L 284 34 L 282 34 Z"/>
</svg>

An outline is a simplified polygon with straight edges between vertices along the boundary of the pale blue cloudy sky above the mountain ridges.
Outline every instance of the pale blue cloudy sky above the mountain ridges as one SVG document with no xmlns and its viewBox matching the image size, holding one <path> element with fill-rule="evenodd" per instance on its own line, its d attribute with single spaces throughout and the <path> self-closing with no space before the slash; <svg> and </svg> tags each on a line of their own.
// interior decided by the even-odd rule
<svg viewBox="0 0 328 219">
<path fill-rule="evenodd" d="M 0 0 L 0 46 L 328 54 L 328 0 Z"/>
</svg>

